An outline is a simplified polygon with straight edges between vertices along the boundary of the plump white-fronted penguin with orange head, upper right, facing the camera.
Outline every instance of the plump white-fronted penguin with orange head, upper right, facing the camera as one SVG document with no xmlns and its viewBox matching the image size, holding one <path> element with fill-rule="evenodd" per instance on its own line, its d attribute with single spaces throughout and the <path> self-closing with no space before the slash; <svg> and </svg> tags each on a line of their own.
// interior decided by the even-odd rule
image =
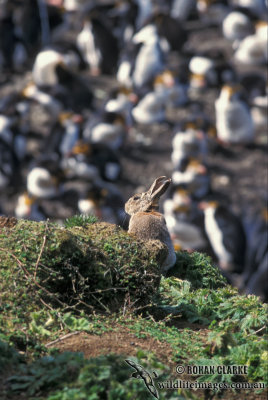
<svg viewBox="0 0 268 400">
<path fill-rule="evenodd" d="M 240 85 L 224 85 L 215 101 L 218 139 L 226 144 L 254 141 L 254 124 Z"/>
</svg>

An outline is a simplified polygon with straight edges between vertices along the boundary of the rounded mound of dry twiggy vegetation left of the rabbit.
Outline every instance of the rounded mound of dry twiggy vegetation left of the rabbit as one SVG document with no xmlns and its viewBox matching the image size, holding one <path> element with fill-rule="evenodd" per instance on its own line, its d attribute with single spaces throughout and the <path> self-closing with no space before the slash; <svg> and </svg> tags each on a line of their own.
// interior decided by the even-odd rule
<svg viewBox="0 0 268 400">
<path fill-rule="evenodd" d="M 18 221 L 0 235 L 3 302 L 16 292 L 17 305 L 28 298 L 70 309 L 114 311 L 146 304 L 160 282 L 158 260 L 165 248 L 147 248 L 107 223 L 68 228 Z"/>
</svg>

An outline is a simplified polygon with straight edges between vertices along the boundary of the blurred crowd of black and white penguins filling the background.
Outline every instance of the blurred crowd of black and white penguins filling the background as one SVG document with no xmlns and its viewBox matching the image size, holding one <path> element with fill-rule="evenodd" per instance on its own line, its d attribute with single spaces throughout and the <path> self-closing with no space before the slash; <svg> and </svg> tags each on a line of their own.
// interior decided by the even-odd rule
<svg viewBox="0 0 268 400">
<path fill-rule="evenodd" d="M 211 28 L 230 54 L 189 46 Z M 0 212 L 93 214 L 127 228 L 122 157 L 153 152 L 161 126 L 172 133 L 163 211 L 175 249 L 211 254 L 232 283 L 267 300 L 266 199 L 241 218 L 211 178 L 217 157 L 254 152 L 267 127 L 267 33 L 265 0 L 3 0 L 0 201 L 15 205 Z M 100 77 L 113 87 L 98 87 Z M 212 113 L 202 102 L 210 90 Z"/>
</svg>

